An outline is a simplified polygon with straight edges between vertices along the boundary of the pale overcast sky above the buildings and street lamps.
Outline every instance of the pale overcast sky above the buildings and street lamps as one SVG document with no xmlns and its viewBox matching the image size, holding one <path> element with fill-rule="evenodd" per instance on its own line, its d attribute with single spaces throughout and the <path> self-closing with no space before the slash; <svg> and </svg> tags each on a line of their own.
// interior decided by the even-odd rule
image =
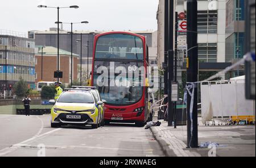
<svg viewBox="0 0 256 168">
<path fill-rule="evenodd" d="M 27 32 L 56 27 L 57 9 L 38 9 L 38 5 L 71 6 L 60 9 L 60 22 L 89 21 L 73 30 L 157 30 L 159 0 L 1 0 L 0 30 Z M 69 25 L 63 25 L 69 30 Z"/>
</svg>

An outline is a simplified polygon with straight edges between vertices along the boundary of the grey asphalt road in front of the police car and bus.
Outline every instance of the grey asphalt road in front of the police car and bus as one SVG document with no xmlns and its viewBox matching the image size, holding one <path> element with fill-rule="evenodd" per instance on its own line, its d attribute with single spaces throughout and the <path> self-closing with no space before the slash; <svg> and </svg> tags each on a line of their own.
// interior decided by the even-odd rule
<svg viewBox="0 0 256 168">
<path fill-rule="evenodd" d="M 50 116 L 0 115 L 0 157 L 165 156 L 149 129 L 130 124 L 50 127 Z"/>
</svg>

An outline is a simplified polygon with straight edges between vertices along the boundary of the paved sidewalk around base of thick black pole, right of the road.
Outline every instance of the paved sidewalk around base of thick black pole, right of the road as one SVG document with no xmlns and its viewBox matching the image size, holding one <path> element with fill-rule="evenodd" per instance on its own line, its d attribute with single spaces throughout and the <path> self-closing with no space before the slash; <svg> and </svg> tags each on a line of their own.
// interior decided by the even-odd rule
<svg viewBox="0 0 256 168">
<path fill-rule="evenodd" d="M 209 148 L 187 148 L 187 126 L 168 127 L 159 120 L 159 127 L 150 127 L 166 156 L 171 157 L 255 157 L 255 125 L 205 126 L 199 118 L 201 143 L 213 142 Z"/>
</svg>

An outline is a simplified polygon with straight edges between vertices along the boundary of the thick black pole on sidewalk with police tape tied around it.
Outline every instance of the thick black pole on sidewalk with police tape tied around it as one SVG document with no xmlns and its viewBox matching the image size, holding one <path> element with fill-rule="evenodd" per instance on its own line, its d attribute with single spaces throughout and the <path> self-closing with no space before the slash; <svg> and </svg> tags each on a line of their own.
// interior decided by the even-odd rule
<svg viewBox="0 0 256 168">
<path fill-rule="evenodd" d="M 187 86 L 189 82 L 197 81 L 198 69 L 198 47 L 197 47 L 197 1 L 187 1 L 187 44 L 188 44 L 188 59 L 187 59 Z M 187 146 L 189 148 L 198 148 L 198 133 L 197 133 L 197 85 L 194 84 L 194 95 L 187 94 Z M 192 89 L 190 90 L 192 93 Z M 191 102 L 193 98 L 193 102 Z M 193 109 L 190 109 L 191 103 Z M 192 111 L 192 114 L 191 114 Z M 192 116 L 192 122 L 191 122 Z M 192 129 L 191 129 L 192 128 Z"/>
</svg>

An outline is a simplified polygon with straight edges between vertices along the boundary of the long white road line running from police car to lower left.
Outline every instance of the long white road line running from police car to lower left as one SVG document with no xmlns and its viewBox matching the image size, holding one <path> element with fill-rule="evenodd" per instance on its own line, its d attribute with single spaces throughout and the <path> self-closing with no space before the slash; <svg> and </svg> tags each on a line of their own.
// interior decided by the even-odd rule
<svg viewBox="0 0 256 168">
<path fill-rule="evenodd" d="M 56 131 L 59 131 L 61 128 L 57 128 L 57 129 L 53 129 L 52 131 L 49 131 L 49 132 L 46 132 L 46 133 L 43 133 L 42 135 L 40 136 L 34 136 L 28 140 L 25 140 L 25 141 L 22 141 L 22 142 L 19 142 L 18 144 L 14 144 L 14 145 L 11 145 L 10 147 L 8 148 L 5 148 L 5 149 L 2 149 L 0 150 L 0 156 L 4 156 L 8 153 L 11 153 L 13 152 L 14 150 L 18 149 L 20 144 L 25 144 L 25 143 L 28 143 L 28 142 L 32 142 L 34 140 L 36 140 L 36 138 L 43 138 L 43 137 L 46 137 L 48 136 L 49 134 L 53 133 L 53 132 L 56 132 Z"/>
</svg>

